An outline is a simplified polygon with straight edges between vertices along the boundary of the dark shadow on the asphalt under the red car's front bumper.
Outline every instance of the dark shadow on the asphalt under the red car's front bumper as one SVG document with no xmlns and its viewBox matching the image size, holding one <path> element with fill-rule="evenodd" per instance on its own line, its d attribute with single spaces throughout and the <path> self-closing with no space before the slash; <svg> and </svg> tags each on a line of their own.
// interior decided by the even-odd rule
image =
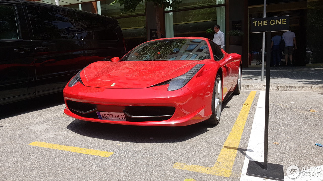
<svg viewBox="0 0 323 181">
<path fill-rule="evenodd" d="M 174 143 L 199 136 L 215 125 L 203 122 L 179 127 L 130 126 L 88 122 L 79 119 L 72 121 L 66 128 L 86 137 L 132 143 Z M 151 139 L 153 138 L 153 139 Z"/>
</svg>

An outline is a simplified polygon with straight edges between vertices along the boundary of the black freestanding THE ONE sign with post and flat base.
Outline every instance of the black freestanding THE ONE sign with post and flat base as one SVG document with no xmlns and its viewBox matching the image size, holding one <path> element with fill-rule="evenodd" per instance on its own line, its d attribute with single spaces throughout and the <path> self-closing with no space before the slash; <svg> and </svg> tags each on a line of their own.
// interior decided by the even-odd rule
<svg viewBox="0 0 323 181">
<path fill-rule="evenodd" d="M 269 125 L 269 84 L 270 84 L 270 47 L 272 31 L 288 31 L 289 16 L 275 16 L 265 18 L 253 18 L 251 33 L 267 32 L 267 64 L 266 64 L 266 102 L 265 102 L 265 138 L 264 138 L 264 162 L 249 160 L 247 173 L 249 176 L 284 181 L 283 165 L 268 163 L 268 125 Z M 263 54 L 265 50 L 263 49 Z"/>
</svg>

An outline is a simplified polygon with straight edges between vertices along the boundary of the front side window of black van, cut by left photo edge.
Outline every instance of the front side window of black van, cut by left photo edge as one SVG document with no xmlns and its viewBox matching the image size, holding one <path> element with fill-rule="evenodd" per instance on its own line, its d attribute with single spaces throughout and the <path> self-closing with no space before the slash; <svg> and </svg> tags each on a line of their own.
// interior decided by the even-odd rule
<svg viewBox="0 0 323 181">
<path fill-rule="evenodd" d="M 14 5 L 0 4 L 0 40 L 19 39 L 19 24 Z"/>
</svg>

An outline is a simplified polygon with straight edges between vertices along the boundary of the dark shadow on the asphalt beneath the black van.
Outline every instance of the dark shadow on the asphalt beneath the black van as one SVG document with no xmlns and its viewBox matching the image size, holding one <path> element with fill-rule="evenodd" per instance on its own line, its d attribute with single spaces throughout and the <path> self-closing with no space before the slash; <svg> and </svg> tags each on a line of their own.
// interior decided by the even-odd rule
<svg viewBox="0 0 323 181">
<path fill-rule="evenodd" d="M 0 105 L 0 119 L 64 104 L 63 92 Z"/>
</svg>

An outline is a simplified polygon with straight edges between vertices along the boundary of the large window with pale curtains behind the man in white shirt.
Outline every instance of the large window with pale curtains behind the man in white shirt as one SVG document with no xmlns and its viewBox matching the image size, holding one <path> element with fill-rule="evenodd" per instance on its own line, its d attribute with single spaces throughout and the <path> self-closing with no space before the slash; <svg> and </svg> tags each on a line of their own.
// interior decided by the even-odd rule
<svg viewBox="0 0 323 181">
<path fill-rule="evenodd" d="M 224 0 L 183 0 L 176 10 L 165 9 L 166 37 L 197 36 L 212 40 L 213 35 L 207 34 L 206 29 L 213 30 L 216 24 L 225 33 L 224 3 Z"/>
</svg>

